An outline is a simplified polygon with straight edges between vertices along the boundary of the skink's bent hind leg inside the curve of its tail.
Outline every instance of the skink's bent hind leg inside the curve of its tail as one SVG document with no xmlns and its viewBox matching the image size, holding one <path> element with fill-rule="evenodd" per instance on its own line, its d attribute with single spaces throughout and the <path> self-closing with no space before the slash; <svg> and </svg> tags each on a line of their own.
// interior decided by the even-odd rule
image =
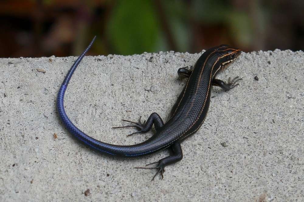
<svg viewBox="0 0 304 202">
<path fill-rule="evenodd" d="M 141 116 L 139 118 L 138 122 L 134 122 L 134 121 L 129 121 L 129 120 L 124 120 L 122 119 L 122 121 L 126 121 L 129 123 L 133 123 L 132 125 L 127 125 L 127 126 L 118 126 L 118 127 L 112 127 L 112 128 L 128 128 L 128 127 L 135 127 L 138 129 L 137 132 L 131 133 L 127 136 L 131 136 L 134 135 L 136 133 L 147 133 L 153 126 L 155 127 L 155 130 L 159 130 L 162 126 L 164 126 L 164 122 L 161 119 L 161 117 L 157 114 L 157 113 L 152 113 L 149 118 L 147 119 L 147 121 L 144 121 L 143 123 L 141 123 L 140 121 Z"/>
</svg>

